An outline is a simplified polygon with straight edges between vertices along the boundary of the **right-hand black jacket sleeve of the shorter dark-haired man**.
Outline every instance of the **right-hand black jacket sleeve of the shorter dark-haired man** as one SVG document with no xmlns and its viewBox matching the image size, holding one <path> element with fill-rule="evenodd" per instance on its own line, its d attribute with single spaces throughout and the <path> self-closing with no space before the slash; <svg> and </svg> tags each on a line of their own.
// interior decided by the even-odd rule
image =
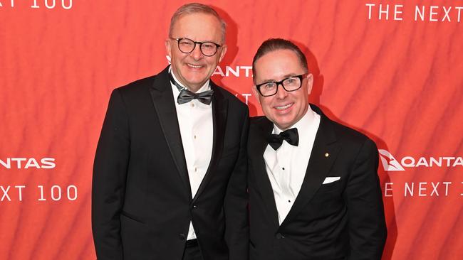
<svg viewBox="0 0 463 260">
<path fill-rule="evenodd" d="M 378 148 L 367 139 L 355 158 L 345 190 L 348 207 L 348 259 L 381 259 L 387 229 L 378 178 Z"/>
</svg>

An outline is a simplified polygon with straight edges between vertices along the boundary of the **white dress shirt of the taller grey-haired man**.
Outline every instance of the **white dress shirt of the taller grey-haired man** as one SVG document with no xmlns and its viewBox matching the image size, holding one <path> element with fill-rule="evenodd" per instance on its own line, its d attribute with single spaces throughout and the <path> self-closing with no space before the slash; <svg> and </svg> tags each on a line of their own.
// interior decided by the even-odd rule
<svg viewBox="0 0 463 260">
<path fill-rule="evenodd" d="M 171 72 L 172 73 L 172 72 Z M 172 77 L 184 87 L 172 73 Z M 183 152 L 187 161 L 189 184 L 192 189 L 192 197 L 196 195 L 199 185 L 206 174 L 212 157 L 212 136 L 214 134 L 212 124 L 212 103 L 207 105 L 193 99 L 184 104 L 178 104 L 177 97 L 180 90 L 172 84 L 173 99 L 177 110 L 177 120 L 182 136 Z M 209 90 L 209 80 L 197 91 Z M 195 239 L 196 234 L 192 222 L 189 222 L 187 239 Z"/>
</svg>

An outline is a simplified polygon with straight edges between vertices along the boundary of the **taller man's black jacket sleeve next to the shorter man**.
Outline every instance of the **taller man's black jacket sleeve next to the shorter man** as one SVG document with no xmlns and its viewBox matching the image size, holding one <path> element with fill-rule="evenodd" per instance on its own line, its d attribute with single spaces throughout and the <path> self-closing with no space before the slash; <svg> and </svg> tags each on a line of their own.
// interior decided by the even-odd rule
<svg viewBox="0 0 463 260">
<path fill-rule="evenodd" d="M 249 131 L 249 110 L 243 113 L 239 156 L 231 173 L 224 200 L 225 241 L 229 260 L 246 260 L 249 254 L 249 220 L 247 193 L 246 146 Z"/>
</svg>

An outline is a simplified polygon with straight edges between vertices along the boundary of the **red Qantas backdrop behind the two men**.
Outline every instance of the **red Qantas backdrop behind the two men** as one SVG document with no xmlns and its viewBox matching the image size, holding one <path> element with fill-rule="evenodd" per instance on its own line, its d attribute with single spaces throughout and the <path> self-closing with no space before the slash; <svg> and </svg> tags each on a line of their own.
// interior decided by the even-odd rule
<svg viewBox="0 0 463 260">
<path fill-rule="evenodd" d="M 184 3 L 0 0 L 0 259 L 95 259 L 91 170 L 109 94 L 168 64 Z M 383 259 L 461 259 L 463 1 L 204 3 L 229 25 L 213 78 L 251 115 L 254 52 L 287 38 L 308 57 L 311 102 L 376 141 Z"/>
</svg>

